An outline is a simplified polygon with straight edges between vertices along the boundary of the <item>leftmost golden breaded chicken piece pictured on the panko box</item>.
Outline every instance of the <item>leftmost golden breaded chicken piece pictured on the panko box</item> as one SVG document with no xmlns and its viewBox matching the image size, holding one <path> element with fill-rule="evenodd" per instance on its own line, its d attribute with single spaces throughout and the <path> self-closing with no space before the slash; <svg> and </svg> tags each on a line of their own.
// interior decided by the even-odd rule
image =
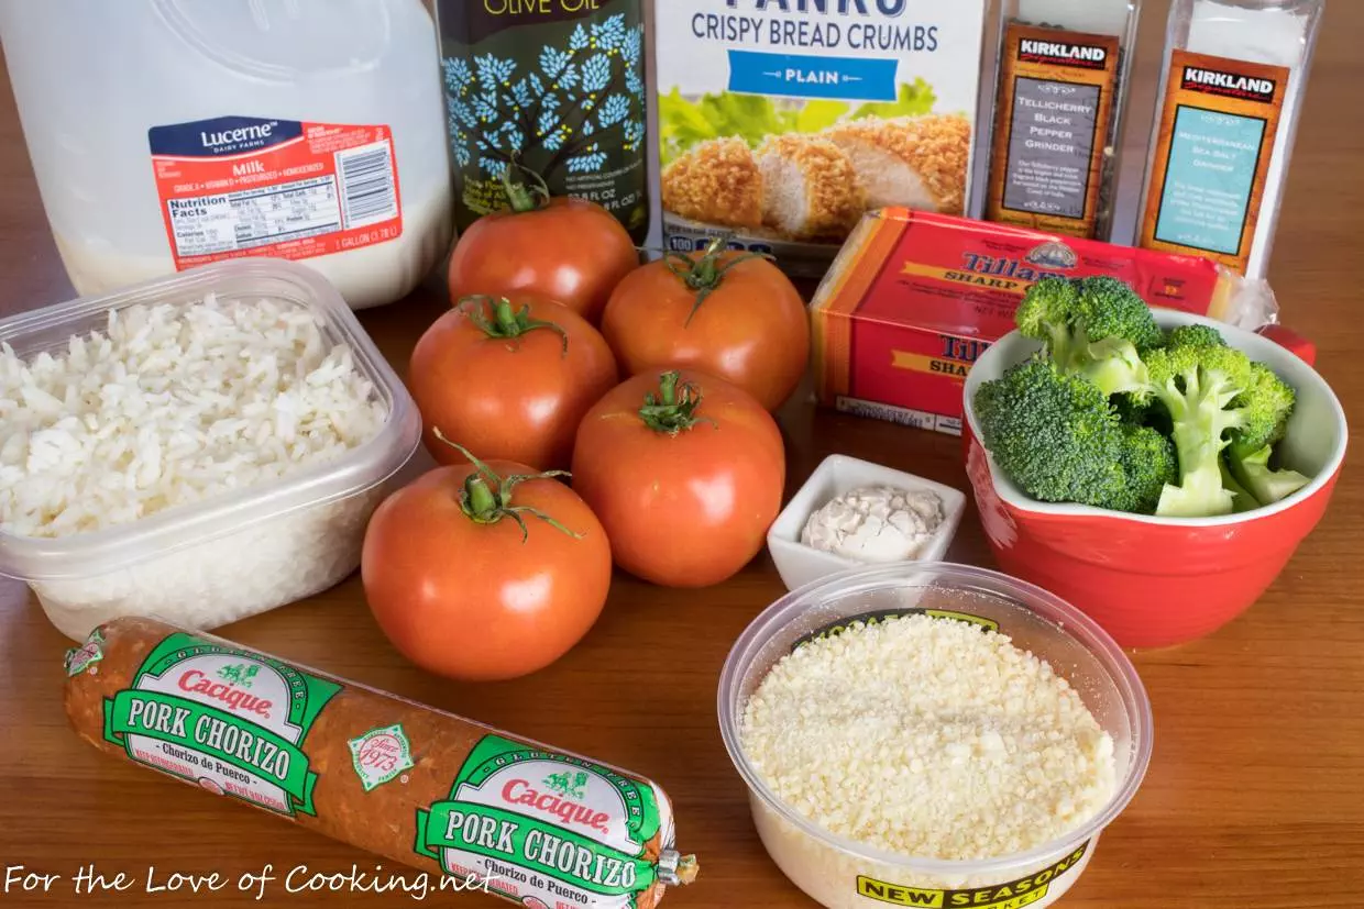
<svg viewBox="0 0 1364 909">
<path fill-rule="evenodd" d="M 709 139 L 663 169 L 663 207 L 726 228 L 762 226 L 762 173 L 743 139 Z"/>
</svg>

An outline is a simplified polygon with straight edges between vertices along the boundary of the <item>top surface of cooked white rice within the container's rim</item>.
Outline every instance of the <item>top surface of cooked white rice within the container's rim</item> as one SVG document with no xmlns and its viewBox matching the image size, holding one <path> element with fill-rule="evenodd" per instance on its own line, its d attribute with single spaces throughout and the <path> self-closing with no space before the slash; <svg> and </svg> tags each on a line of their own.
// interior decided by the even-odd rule
<svg viewBox="0 0 1364 909">
<path fill-rule="evenodd" d="M 349 348 L 301 307 L 110 311 L 56 356 L 0 350 L 0 530 L 131 523 L 338 458 L 386 417 Z"/>
</svg>

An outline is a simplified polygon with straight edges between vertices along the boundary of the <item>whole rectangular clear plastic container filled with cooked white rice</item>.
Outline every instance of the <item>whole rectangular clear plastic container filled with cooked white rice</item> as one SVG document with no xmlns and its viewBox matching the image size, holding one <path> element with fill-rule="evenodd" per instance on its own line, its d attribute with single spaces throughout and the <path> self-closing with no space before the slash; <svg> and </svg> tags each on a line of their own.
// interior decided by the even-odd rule
<svg viewBox="0 0 1364 909">
<path fill-rule="evenodd" d="M 402 383 L 321 274 L 237 259 L 0 320 L 0 574 L 74 639 L 216 628 L 359 566 L 416 450 Z"/>
</svg>

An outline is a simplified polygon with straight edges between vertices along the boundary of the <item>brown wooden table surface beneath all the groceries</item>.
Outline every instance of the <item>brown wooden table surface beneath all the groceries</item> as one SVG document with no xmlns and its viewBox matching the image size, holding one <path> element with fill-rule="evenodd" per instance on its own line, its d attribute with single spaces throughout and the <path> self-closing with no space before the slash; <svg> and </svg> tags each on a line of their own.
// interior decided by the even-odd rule
<svg viewBox="0 0 1364 909">
<path fill-rule="evenodd" d="M 1151 4 L 1133 110 L 1148 112 L 1163 4 Z M 1318 50 L 1289 180 L 1271 279 L 1285 322 L 1320 349 L 1319 368 L 1364 425 L 1364 4 L 1333 3 Z M 1140 157 L 1146 123 L 1128 146 Z M 0 312 L 71 294 L 57 260 L 8 87 L 0 87 Z M 364 315 L 400 369 L 442 311 L 419 293 Z M 844 452 L 966 488 L 956 439 L 788 406 L 794 489 L 828 454 Z M 1352 457 L 1334 504 L 1264 598 L 1210 639 L 1135 661 L 1154 702 L 1155 755 L 1132 805 L 1108 830 L 1069 909 L 1357 909 L 1364 906 L 1364 469 Z M 974 514 L 949 557 L 990 566 Z M 464 685 L 401 660 L 364 606 L 356 578 L 311 601 L 222 630 L 228 638 L 357 681 L 634 769 L 677 807 L 679 845 L 700 882 L 664 905 L 814 905 L 768 860 L 743 785 L 720 743 L 715 687 L 734 638 L 783 593 L 765 555 L 734 581 L 660 590 L 621 576 L 600 623 L 566 658 L 509 684 Z M 451 646 L 458 646 L 457 638 Z M 217 871 L 233 882 L 266 865 L 277 906 L 398 906 L 405 894 L 286 893 L 284 876 L 375 869 L 372 856 L 110 760 L 76 740 L 61 710 L 68 646 L 22 585 L 0 582 L 0 864 L 57 875 L 48 893 L 0 890 L 34 906 L 248 906 L 233 883 L 218 894 L 155 891 L 172 872 Z M 123 893 L 72 895 L 94 863 L 124 872 Z M 153 875 L 149 890 L 149 872 Z M 479 894 L 431 897 L 494 906 Z"/>
</svg>

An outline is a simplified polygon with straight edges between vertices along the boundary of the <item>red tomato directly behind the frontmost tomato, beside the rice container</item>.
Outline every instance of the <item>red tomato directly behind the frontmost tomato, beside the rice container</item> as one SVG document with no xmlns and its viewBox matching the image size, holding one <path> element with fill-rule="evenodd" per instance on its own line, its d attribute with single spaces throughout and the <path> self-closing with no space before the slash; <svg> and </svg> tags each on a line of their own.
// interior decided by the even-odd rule
<svg viewBox="0 0 1364 909">
<path fill-rule="evenodd" d="M 606 341 L 567 307 L 539 294 L 466 297 L 412 350 L 408 388 L 441 463 L 484 458 L 537 470 L 567 467 L 582 414 L 617 383 Z"/>
</svg>

